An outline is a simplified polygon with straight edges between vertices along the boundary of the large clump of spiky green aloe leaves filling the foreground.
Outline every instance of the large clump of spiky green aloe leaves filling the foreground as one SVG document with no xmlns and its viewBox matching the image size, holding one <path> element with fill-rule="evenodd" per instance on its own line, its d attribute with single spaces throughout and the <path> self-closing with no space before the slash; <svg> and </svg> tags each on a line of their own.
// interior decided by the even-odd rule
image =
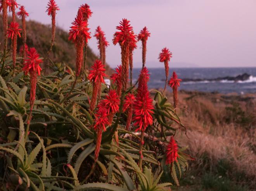
<svg viewBox="0 0 256 191">
<path fill-rule="evenodd" d="M 128 20 L 125 22 L 128 25 Z M 133 37 L 133 43 L 136 43 Z M 117 38 L 116 43 L 119 40 Z M 128 43 L 122 45 L 125 66 L 128 66 L 128 60 L 125 60 L 129 55 L 128 46 Z M 185 148 L 177 146 L 177 159 L 166 165 L 166 145 L 170 136 L 185 126 L 168 98 L 157 90 L 151 90 L 149 96 L 147 88 L 150 100 L 147 119 L 150 123 L 137 132 L 138 126 L 131 120 L 134 112 L 130 112 L 130 122 L 126 124 L 124 98 L 131 92 L 138 93 L 136 84 L 130 88 L 126 86 L 128 67 L 119 83 L 123 88 L 116 84 L 109 87 L 101 80 L 101 90 L 93 94 L 93 83 L 83 78 L 87 77 L 86 71 L 79 70 L 84 75 L 78 75 L 68 65 L 48 59 L 52 73 L 38 76 L 35 106 L 31 109 L 31 79 L 20 72 L 23 58 L 16 59 L 15 71 L 11 67 L 11 55 L 4 55 L 4 59 L 0 75 L 1 190 L 163 191 L 172 184 L 179 185 L 187 171 L 188 160 L 193 158 L 185 153 Z M 94 129 L 96 119 L 99 119 L 95 115 L 100 106 L 97 100 L 101 102 L 112 89 L 120 90 L 121 96 L 118 94 L 115 99 L 120 104 L 115 103 L 118 107 L 111 116 L 108 113 L 106 118 L 111 120 L 102 128 L 106 131 L 101 134 Z M 90 107 L 92 98 L 95 107 Z M 32 116 L 31 121 L 29 116 Z M 163 181 L 163 174 L 171 177 L 170 183 Z"/>
</svg>

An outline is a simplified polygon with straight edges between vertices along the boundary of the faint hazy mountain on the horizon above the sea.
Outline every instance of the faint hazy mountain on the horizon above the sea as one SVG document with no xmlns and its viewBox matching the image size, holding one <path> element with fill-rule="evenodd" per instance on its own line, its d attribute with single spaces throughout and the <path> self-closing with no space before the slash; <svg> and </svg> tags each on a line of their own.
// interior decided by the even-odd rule
<svg viewBox="0 0 256 191">
<path fill-rule="evenodd" d="M 142 63 L 135 63 L 135 66 L 140 66 Z M 146 66 L 148 68 L 164 68 L 164 64 L 160 63 L 158 61 L 147 61 Z M 194 63 L 185 63 L 185 62 L 169 62 L 169 67 L 172 68 L 197 68 L 200 67 L 199 65 L 196 65 Z M 135 68 L 140 68 L 140 67 L 135 67 Z"/>
</svg>

